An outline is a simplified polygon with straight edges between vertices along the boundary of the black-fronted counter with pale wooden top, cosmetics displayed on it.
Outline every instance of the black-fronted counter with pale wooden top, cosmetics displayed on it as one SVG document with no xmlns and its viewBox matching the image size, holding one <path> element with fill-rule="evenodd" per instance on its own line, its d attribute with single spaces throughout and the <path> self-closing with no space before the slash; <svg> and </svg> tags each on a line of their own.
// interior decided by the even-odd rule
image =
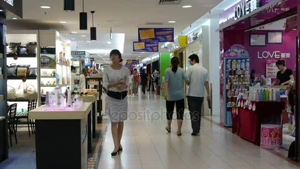
<svg viewBox="0 0 300 169">
<path fill-rule="evenodd" d="M 29 112 L 36 121 L 37 169 L 87 169 L 92 103 L 75 111 L 42 111 L 44 107 Z"/>
</svg>

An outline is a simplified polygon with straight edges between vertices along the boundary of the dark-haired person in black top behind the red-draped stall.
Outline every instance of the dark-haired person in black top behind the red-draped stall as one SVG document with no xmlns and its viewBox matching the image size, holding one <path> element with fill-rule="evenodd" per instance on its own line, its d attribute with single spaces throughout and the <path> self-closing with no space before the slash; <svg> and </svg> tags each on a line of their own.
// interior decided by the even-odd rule
<svg viewBox="0 0 300 169">
<path fill-rule="evenodd" d="M 280 85 L 288 85 L 291 81 L 294 81 L 293 71 L 291 69 L 287 69 L 285 66 L 284 60 L 278 60 L 276 62 L 276 66 L 278 68 L 276 80 L 272 83 L 272 85 L 280 84 Z"/>
</svg>

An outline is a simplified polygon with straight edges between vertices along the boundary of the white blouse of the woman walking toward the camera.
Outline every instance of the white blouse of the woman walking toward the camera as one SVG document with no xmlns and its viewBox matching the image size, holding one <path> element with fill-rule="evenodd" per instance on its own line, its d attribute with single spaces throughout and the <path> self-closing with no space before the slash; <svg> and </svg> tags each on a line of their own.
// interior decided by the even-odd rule
<svg viewBox="0 0 300 169">
<path fill-rule="evenodd" d="M 121 92 L 124 90 L 119 90 L 118 87 L 110 87 L 108 88 L 108 85 L 111 82 L 119 82 L 120 80 L 124 79 L 125 84 L 129 86 L 129 74 L 128 74 L 128 68 L 124 65 L 122 65 L 122 68 L 119 70 L 112 69 L 111 66 L 106 66 L 103 70 L 103 87 L 107 88 L 110 91 L 115 92 Z"/>
</svg>

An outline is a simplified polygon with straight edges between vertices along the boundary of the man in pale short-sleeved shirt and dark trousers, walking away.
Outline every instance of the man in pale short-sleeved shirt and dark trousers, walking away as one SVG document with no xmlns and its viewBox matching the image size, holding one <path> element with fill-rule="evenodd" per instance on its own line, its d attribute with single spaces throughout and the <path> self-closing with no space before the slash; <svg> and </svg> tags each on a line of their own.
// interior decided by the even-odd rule
<svg viewBox="0 0 300 169">
<path fill-rule="evenodd" d="M 188 110 L 190 114 L 191 127 L 193 132 L 191 135 L 197 135 L 200 132 L 201 124 L 201 108 L 204 99 L 204 88 L 207 91 L 207 100 L 210 98 L 209 75 L 208 71 L 199 64 L 199 57 L 192 54 L 188 57 L 189 63 L 192 65 L 188 69 L 188 78 L 190 80 L 188 87 Z"/>
</svg>

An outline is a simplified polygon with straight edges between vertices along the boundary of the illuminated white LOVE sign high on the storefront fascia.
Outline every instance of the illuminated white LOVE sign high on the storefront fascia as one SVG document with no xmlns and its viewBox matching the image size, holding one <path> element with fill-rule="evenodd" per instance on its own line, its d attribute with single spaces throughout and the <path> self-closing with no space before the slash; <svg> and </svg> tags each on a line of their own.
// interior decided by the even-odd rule
<svg viewBox="0 0 300 169">
<path fill-rule="evenodd" d="M 242 0 L 234 7 L 234 20 L 255 11 L 260 7 L 260 0 Z"/>
</svg>

